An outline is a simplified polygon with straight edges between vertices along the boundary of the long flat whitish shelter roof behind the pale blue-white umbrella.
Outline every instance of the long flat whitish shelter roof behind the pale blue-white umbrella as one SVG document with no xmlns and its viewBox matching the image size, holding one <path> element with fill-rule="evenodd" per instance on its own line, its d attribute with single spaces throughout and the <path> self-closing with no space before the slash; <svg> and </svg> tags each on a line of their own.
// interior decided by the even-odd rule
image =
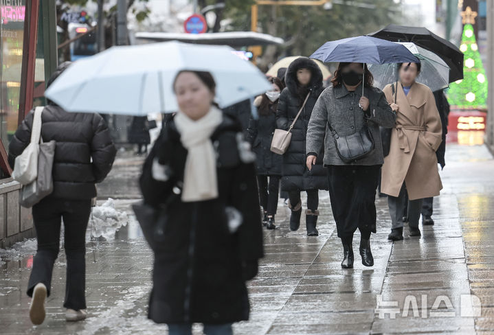
<svg viewBox="0 0 494 335">
<path fill-rule="evenodd" d="M 173 32 L 137 32 L 135 37 L 151 41 L 182 41 L 199 44 L 218 44 L 231 46 L 282 44 L 282 38 L 259 32 L 214 32 L 204 34 L 186 34 Z"/>
</svg>

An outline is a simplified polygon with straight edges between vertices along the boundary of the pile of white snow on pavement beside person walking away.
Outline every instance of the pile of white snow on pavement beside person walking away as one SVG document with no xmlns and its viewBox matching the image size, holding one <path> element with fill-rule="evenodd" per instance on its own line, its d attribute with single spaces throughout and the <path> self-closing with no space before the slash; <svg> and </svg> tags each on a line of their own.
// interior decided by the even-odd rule
<svg viewBox="0 0 494 335">
<path fill-rule="evenodd" d="M 103 205 L 93 207 L 89 218 L 86 240 L 90 240 L 91 236 L 113 240 L 118 229 L 125 227 L 127 223 L 127 213 L 115 209 L 115 201 L 109 198 Z"/>
</svg>

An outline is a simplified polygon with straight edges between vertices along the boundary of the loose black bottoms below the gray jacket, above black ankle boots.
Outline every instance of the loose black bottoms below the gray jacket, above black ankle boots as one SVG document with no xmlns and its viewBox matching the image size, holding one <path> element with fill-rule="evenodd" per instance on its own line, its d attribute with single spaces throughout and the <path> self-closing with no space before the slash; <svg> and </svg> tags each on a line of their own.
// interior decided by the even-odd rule
<svg viewBox="0 0 494 335">
<path fill-rule="evenodd" d="M 328 165 L 329 196 L 338 237 L 376 232 L 376 189 L 381 165 Z"/>
</svg>

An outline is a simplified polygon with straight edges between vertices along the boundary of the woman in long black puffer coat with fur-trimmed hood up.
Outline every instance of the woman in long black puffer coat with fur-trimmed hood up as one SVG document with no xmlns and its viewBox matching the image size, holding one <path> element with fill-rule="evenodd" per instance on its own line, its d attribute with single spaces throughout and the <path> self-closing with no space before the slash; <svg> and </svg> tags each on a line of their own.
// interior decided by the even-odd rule
<svg viewBox="0 0 494 335">
<path fill-rule="evenodd" d="M 319 215 L 318 190 L 328 189 L 328 180 L 322 165 L 322 154 L 319 155 L 320 158 L 318 157 L 317 164 L 312 170 L 306 167 L 305 143 L 308 121 L 311 119 L 317 97 L 322 92 L 322 72 L 313 60 L 300 57 L 291 62 L 285 75 L 285 82 L 287 87 L 280 95 L 276 113 L 278 128 L 288 130 L 307 95 L 308 99 L 291 131 L 290 146 L 283 155 L 281 188 L 289 192 L 292 231 L 300 227 L 300 216 L 302 216 L 300 192 L 307 192 L 307 235 L 317 236 L 319 235 L 316 229 Z"/>
</svg>

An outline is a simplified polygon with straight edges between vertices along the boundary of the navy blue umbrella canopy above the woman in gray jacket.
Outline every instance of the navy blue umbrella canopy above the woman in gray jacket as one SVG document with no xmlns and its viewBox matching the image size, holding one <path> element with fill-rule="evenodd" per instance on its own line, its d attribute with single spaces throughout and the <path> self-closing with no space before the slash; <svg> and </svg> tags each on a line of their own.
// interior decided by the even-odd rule
<svg viewBox="0 0 494 335">
<path fill-rule="evenodd" d="M 418 58 L 405 46 L 370 36 L 357 36 L 326 42 L 311 55 L 311 58 L 322 62 L 367 64 L 418 62 Z"/>
</svg>

